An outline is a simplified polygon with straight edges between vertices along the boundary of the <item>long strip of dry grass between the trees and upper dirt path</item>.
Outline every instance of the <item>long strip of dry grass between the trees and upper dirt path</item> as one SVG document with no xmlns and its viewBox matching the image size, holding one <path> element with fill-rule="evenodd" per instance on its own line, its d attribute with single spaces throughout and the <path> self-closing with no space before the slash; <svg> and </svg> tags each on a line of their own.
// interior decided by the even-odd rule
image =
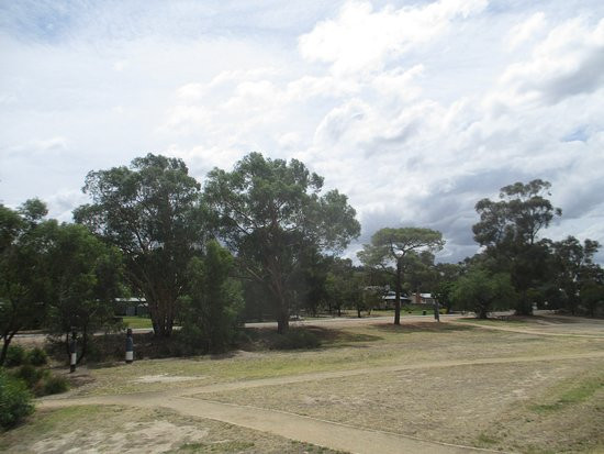
<svg viewBox="0 0 604 454">
<path fill-rule="evenodd" d="M 234 352 L 222 356 L 145 359 L 88 370 L 76 396 L 155 391 L 220 383 L 450 359 L 548 355 L 604 347 L 604 340 L 543 337 L 449 323 L 309 328 L 323 346 L 307 351 Z"/>
</svg>

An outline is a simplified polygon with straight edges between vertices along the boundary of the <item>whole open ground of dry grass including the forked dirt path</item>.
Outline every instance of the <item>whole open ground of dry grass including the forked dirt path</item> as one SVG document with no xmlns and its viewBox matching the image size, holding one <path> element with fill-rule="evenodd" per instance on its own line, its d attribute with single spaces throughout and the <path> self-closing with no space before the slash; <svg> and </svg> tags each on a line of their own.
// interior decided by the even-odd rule
<svg viewBox="0 0 604 454">
<path fill-rule="evenodd" d="M 297 328 L 317 350 L 80 368 L 0 451 L 604 452 L 604 321 L 390 323 Z"/>
</svg>

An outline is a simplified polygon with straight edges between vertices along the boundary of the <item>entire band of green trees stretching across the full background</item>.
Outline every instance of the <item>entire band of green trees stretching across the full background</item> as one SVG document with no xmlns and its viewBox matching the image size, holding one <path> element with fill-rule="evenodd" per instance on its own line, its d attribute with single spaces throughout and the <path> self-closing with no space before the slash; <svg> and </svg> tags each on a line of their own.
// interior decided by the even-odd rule
<svg viewBox="0 0 604 454">
<path fill-rule="evenodd" d="M 360 225 L 346 196 L 323 191 L 323 178 L 292 159 L 249 154 L 232 171 L 212 170 L 202 187 L 177 158 L 149 154 L 130 167 L 91 171 L 91 202 L 76 223 L 46 220 L 30 200 L 0 206 L 2 356 L 24 326 L 56 334 L 77 328 L 86 339 L 114 324 L 113 301 L 135 295 L 148 303 L 156 335 L 175 320 L 202 350 L 227 344 L 238 314 L 278 321 L 292 312 L 361 310 L 394 288 L 432 291 L 448 310 L 496 308 L 529 313 L 534 303 L 594 314 L 604 278 L 593 263 L 596 242 L 539 237 L 561 211 L 546 199 L 549 184 L 502 188 L 477 203 L 473 226 L 482 251 L 460 264 L 436 264 L 440 232 L 381 229 L 356 267 L 338 254 Z"/>
</svg>

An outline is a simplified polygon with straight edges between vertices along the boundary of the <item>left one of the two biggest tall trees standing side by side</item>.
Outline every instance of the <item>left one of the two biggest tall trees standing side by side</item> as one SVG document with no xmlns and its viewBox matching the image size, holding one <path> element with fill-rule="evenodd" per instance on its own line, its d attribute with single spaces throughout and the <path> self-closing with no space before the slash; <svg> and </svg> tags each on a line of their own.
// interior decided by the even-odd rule
<svg viewBox="0 0 604 454">
<path fill-rule="evenodd" d="M 75 210 L 76 222 L 122 251 L 156 335 L 169 336 L 187 266 L 205 241 L 199 182 L 181 159 L 148 154 L 130 167 L 90 171 L 83 191 L 92 203 Z"/>
</svg>

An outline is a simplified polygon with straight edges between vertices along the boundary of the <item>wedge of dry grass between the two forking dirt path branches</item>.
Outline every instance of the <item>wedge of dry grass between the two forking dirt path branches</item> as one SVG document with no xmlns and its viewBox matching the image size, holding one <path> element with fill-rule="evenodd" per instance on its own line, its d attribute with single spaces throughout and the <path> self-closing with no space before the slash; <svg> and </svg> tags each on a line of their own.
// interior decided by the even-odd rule
<svg viewBox="0 0 604 454">
<path fill-rule="evenodd" d="M 198 397 L 513 452 L 604 446 L 604 367 L 585 358 L 426 367 Z"/>
</svg>

